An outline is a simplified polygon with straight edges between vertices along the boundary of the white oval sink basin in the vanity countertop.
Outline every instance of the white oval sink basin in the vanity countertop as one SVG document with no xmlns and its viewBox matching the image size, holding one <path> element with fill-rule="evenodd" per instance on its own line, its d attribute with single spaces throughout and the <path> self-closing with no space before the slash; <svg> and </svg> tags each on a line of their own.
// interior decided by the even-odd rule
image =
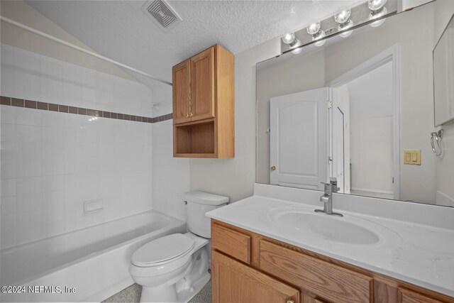
<svg viewBox="0 0 454 303">
<path fill-rule="evenodd" d="M 388 228 L 357 216 L 328 216 L 307 207 L 279 207 L 271 209 L 268 216 L 275 225 L 299 233 L 307 240 L 317 238 L 348 245 L 374 245 L 397 236 Z"/>
</svg>

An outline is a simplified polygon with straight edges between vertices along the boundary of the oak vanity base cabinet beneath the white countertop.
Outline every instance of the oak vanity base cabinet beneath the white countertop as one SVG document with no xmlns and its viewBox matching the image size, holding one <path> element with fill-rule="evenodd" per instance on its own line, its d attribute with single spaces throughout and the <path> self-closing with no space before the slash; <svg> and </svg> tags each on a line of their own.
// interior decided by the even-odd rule
<svg viewBox="0 0 454 303">
<path fill-rule="evenodd" d="M 211 250 L 214 303 L 454 302 L 438 292 L 216 220 L 211 220 Z"/>
</svg>

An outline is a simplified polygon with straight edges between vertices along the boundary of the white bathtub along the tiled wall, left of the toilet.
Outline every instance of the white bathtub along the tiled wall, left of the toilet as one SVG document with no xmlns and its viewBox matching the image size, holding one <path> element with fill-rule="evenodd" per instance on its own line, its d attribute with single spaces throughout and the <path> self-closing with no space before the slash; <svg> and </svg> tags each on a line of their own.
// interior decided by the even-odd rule
<svg viewBox="0 0 454 303">
<path fill-rule="evenodd" d="M 133 252 L 150 240 L 185 233 L 186 224 L 145 211 L 1 250 L 1 302 L 100 302 L 133 284 Z M 2 289 L 3 292 L 3 289 Z"/>
</svg>

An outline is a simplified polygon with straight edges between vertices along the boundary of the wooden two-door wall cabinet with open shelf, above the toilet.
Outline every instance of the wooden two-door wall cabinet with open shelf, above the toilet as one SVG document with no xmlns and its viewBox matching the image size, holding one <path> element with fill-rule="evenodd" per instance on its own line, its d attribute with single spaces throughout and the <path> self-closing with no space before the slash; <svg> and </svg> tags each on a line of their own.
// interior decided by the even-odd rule
<svg viewBox="0 0 454 303">
<path fill-rule="evenodd" d="M 174 157 L 234 157 L 233 63 L 216 44 L 172 68 Z"/>
</svg>

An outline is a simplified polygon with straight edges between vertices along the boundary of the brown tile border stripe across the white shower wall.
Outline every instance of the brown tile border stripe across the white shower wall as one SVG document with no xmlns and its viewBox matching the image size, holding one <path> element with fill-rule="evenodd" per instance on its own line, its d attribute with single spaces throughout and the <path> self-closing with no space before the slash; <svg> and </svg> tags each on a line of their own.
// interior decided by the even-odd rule
<svg viewBox="0 0 454 303">
<path fill-rule="evenodd" d="M 157 117 L 133 116 L 130 114 L 114 113 L 110 111 L 99 111 L 97 109 L 84 109 L 82 107 L 67 106 L 62 104 L 52 104 L 41 101 L 17 99 L 12 97 L 0 96 L 0 104 L 8 106 L 18 106 L 27 109 L 40 109 L 43 111 L 58 111 L 60 113 L 78 114 L 84 116 L 95 116 L 107 119 L 127 120 L 143 123 L 156 123 L 172 119 L 172 113 Z"/>
</svg>

